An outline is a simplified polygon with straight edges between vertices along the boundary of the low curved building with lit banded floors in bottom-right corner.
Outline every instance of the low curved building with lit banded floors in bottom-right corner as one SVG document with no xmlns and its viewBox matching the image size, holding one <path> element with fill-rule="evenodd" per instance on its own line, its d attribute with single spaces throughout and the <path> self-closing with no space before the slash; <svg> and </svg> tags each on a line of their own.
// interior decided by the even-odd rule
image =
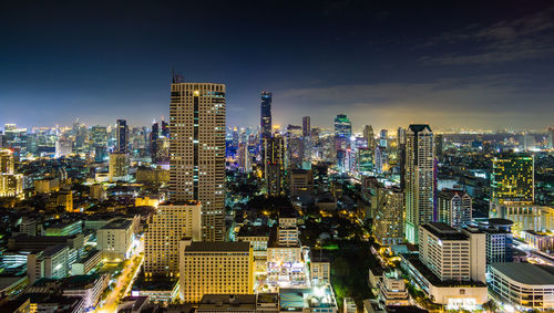
<svg viewBox="0 0 554 313">
<path fill-rule="evenodd" d="M 554 307 L 554 270 L 530 263 L 494 263 L 490 291 L 517 311 Z"/>
</svg>

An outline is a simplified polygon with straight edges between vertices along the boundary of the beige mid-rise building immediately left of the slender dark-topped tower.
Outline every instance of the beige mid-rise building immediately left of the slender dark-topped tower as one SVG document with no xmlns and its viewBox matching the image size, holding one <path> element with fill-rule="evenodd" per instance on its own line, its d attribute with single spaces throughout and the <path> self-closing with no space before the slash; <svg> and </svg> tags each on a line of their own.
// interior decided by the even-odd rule
<svg viewBox="0 0 554 313">
<path fill-rule="evenodd" d="M 371 206 L 373 211 L 373 236 L 381 246 L 393 246 L 403 242 L 403 206 L 404 195 L 396 187 L 378 184 L 372 190 Z"/>
</svg>

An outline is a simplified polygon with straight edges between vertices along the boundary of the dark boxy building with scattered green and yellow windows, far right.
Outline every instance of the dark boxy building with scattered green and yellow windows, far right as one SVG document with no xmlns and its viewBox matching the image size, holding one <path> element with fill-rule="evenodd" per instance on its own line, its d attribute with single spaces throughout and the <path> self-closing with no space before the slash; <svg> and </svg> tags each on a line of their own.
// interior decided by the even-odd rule
<svg viewBox="0 0 554 313">
<path fill-rule="evenodd" d="M 492 159 L 491 205 L 532 205 L 535 198 L 534 157 L 502 154 Z"/>
</svg>

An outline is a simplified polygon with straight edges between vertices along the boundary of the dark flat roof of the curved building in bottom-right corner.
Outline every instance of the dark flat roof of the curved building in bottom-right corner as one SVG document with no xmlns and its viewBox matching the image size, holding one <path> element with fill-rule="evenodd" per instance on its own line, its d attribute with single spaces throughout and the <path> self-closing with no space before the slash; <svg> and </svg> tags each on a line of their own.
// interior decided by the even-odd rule
<svg viewBox="0 0 554 313">
<path fill-rule="evenodd" d="M 507 278 L 524 284 L 554 285 L 554 268 L 541 267 L 531 263 L 493 263 L 491 268 Z"/>
</svg>

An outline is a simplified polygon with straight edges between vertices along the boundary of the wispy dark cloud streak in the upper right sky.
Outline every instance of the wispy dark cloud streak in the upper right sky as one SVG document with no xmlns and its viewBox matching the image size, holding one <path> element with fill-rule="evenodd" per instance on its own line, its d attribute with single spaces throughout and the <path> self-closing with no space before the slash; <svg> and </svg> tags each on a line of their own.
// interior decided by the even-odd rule
<svg viewBox="0 0 554 313">
<path fill-rule="evenodd" d="M 554 54 L 554 8 L 492 25 L 471 24 L 458 32 L 445 32 L 432 38 L 424 46 L 474 46 L 468 53 L 425 55 L 428 64 L 489 65 L 512 61 L 546 58 Z"/>
</svg>

